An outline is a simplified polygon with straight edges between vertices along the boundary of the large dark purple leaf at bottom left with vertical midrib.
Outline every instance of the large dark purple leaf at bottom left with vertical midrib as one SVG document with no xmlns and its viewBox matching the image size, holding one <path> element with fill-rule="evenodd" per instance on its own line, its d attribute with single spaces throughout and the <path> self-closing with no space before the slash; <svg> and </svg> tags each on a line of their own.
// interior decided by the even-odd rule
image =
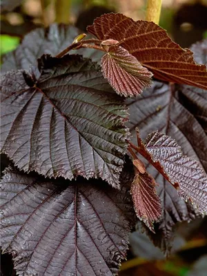
<svg viewBox="0 0 207 276">
<path fill-rule="evenodd" d="M 18 275 L 116 275 L 134 217 L 129 187 L 6 169 L 1 246 Z"/>
</svg>

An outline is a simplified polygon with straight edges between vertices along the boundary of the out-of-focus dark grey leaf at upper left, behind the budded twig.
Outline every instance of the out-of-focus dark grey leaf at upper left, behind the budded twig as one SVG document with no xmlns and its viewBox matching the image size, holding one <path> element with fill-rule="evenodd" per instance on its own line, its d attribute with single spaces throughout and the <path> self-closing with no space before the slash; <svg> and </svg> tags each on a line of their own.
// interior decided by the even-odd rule
<svg viewBox="0 0 207 276">
<path fill-rule="evenodd" d="M 28 70 L 31 65 L 37 66 L 37 59 L 43 54 L 57 55 L 68 47 L 79 34 L 79 30 L 73 26 L 54 23 L 47 29 L 37 28 L 27 34 L 21 45 L 5 55 L 1 72 L 15 69 Z M 93 61 L 99 61 L 102 52 L 94 49 L 72 50 L 72 54 L 78 53 L 83 57 L 89 57 Z"/>
</svg>

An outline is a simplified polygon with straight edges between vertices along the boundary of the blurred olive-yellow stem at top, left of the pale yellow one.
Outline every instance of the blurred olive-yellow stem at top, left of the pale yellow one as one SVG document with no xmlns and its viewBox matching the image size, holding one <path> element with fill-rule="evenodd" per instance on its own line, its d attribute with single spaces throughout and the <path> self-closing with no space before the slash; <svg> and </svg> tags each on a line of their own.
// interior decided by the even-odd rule
<svg viewBox="0 0 207 276">
<path fill-rule="evenodd" d="M 55 1 L 55 11 L 57 23 L 70 23 L 70 0 L 56 0 Z"/>
</svg>

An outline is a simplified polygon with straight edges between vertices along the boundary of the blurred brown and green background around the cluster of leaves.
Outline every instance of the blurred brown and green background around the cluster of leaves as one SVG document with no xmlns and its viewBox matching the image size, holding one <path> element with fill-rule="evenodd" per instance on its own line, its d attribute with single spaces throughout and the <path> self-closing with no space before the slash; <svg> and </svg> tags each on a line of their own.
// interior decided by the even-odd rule
<svg viewBox="0 0 207 276">
<path fill-rule="evenodd" d="M 10 4 L 8 4 L 10 2 Z M 12 3 L 12 5 L 11 5 Z M 70 23 L 82 32 L 96 17 L 121 12 L 134 20 L 145 19 L 145 0 L 16 0 L 1 1 L 1 58 L 17 48 L 21 39 L 53 22 Z M 163 0 L 159 25 L 182 47 L 207 37 L 207 0 Z M 2 59 L 1 59 L 2 60 Z M 8 165 L 1 156 L 1 171 Z M 128 260 L 119 276 L 206 276 L 207 220 L 177 226 L 172 254 L 166 259 L 141 233 L 130 235 Z M 1 276 L 16 275 L 10 255 L 1 256 Z"/>
</svg>

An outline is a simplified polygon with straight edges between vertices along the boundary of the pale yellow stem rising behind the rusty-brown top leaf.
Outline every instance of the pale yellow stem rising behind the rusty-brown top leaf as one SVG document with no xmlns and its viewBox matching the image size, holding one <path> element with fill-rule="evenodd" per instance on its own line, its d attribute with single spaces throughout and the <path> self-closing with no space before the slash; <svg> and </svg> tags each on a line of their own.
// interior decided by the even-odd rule
<svg viewBox="0 0 207 276">
<path fill-rule="evenodd" d="M 161 12 L 161 0 L 148 0 L 146 9 L 146 20 L 159 24 Z"/>
</svg>

